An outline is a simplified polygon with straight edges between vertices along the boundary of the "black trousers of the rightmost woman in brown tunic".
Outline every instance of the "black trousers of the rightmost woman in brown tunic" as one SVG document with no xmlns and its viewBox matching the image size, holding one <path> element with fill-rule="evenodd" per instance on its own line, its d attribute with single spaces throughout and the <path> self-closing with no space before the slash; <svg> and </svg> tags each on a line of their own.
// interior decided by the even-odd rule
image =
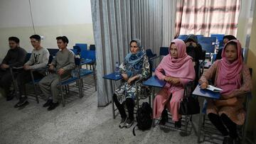
<svg viewBox="0 0 256 144">
<path fill-rule="evenodd" d="M 224 113 L 218 116 L 215 113 L 208 113 L 208 118 L 211 123 L 222 133 L 224 136 L 230 135 L 230 138 L 238 138 L 236 124 L 228 118 Z M 225 126 L 228 128 L 225 128 Z"/>
</svg>

